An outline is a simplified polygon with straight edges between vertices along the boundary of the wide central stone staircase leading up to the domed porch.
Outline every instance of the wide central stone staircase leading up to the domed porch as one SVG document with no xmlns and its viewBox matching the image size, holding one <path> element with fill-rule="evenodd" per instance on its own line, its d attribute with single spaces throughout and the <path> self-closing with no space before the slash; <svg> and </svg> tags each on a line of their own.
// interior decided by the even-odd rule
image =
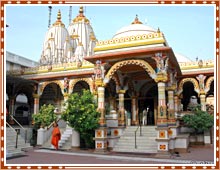
<svg viewBox="0 0 220 170">
<path fill-rule="evenodd" d="M 140 136 L 140 128 L 137 131 L 135 148 L 135 130 L 137 126 L 129 126 L 125 129 L 118 143 L 114 146 L 113 152 L 129 152 L 129 153 L 157 153 L 157 131 L 156 126 L 142 126 L 142 136 Z"/>
</svg>

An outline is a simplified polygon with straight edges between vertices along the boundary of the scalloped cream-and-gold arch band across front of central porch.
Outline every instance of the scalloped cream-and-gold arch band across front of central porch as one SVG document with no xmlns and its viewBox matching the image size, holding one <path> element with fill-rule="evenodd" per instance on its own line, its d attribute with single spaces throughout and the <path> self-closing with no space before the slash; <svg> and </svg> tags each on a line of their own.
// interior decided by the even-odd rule
<svg viewBox="0 0 220 170">
<path fill-rule="evenodd" d="M 144 70 L 152 77 L 154 78 L 156 76 L 156 72 L 154 71 L 154 69 L 144 60 L 125 60 L 125 61 L 120 61 L 118 63 L 115 63 L 111 69 L 108 71 L 108 73 L 105 76 L 104 79 L 104 83 L 108 83 L 109 80 L 113 77 L 114 73 L 120 69 L 121 67 L 125 66 L 125 65 L 138 65 L 142 68 L 144 68 Z"/>
</svg>

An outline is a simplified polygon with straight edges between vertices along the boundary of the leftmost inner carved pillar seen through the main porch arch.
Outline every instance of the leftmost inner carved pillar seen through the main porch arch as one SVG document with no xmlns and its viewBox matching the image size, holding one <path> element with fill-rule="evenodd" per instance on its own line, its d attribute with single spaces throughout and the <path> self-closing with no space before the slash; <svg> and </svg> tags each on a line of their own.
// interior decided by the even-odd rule
<svg viewBox="0 0 220 170">
<path fill-rule="evenodd" d="M 118 97 L 119 97 L 119 126 L 125 126 L 125 108 L 124 108 L 124 94 L 125 90 L 119 90 L 118 91 Z"/>
</svg>

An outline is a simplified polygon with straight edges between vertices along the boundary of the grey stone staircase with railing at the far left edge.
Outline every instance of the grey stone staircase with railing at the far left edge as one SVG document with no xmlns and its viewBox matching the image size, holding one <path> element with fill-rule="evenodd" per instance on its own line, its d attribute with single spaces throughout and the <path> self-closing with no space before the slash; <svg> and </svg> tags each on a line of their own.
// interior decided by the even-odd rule
<svg viewBox="0 0 220 170">
<path fill-rule="evenodd" d="M 27 141 L 28 142 L 28 141 Z M 18 135 L 17 148 L 16 145 L 16 132 L 14 129 L 7 127 L 6 128 L 6 158 L 21 156 L 28 149 L 32 149 L 30 143 L 25 143 L 25 140 Z"/>
</svg>

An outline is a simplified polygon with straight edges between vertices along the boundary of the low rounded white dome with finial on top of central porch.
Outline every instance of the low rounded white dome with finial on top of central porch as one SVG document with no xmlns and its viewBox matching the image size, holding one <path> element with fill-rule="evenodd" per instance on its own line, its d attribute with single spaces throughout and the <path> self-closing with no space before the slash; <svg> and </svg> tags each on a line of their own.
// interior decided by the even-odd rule
<svg viewBox="0 0 220 170">
<path fill-rule="evenodd" d="M 156 32 L 157 30 L 155 30 L 154 28 L 142 24 L 142 22 L 139 21 L 138 16 L 136 15 L 136 18 L 131 23 L 131 25 L 122 27 L 119 31 L 116 32 L 116 34 L 113 36 L 113 39 L 127 37 L 127 36 L 150 34 Z"/>
</svg>

